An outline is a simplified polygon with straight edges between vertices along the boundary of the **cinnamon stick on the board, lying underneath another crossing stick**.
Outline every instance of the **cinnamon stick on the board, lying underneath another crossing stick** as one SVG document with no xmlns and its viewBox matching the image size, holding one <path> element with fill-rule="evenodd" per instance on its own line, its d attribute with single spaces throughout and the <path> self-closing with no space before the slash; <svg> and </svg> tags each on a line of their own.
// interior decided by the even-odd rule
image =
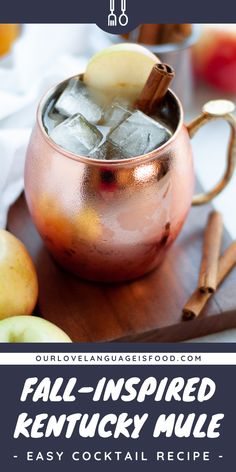
<svg viewBox="0 0 236 472">
<path fill-rule="evenodd" d="M 219 260 L 217 287 L 223 282 L 229 272 L 236 265 L 236 241 L 234 241 L 224 252 Z M 202 293 L 199 289 L 195 290 L 190 299 L 183 308 L 183 318 L 185 320 L 193 320 L 202 312 L 207 301 L 213 294 Z"/>
</svg>

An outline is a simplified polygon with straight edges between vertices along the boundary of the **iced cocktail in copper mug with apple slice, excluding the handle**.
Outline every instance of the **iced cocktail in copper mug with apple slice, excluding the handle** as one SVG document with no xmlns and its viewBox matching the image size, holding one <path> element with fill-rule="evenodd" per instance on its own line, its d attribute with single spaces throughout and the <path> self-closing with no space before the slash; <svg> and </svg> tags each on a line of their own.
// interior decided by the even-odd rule
<svg viewBox="0 0 236 472">
<path fill-rule="evenodd" d="M 170 90 L 147 113 L 139 101 L 156 62 L 140 46 L 114 46 L 39 106 L 27 202 L 54 258 L 82 278 L 123 281 L 154 269 L 190 208 L 181 104 Z"/>
</svg>

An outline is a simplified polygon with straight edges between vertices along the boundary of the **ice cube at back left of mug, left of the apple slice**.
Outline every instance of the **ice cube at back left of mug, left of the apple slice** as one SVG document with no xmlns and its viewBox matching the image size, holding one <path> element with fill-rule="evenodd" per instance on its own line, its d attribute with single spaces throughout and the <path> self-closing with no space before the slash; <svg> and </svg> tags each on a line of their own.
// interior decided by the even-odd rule
<svg viewBox="0 0 236 472">
<path fill-rule="evenodd" d="M 102 108 L 91 98 L 88 88 L 79 79 L 70 79 L 58 98 L 55 108 L 62 115 L 81 113 L 90 123 L 98 123 L 102 118 Z"/>
</svg>

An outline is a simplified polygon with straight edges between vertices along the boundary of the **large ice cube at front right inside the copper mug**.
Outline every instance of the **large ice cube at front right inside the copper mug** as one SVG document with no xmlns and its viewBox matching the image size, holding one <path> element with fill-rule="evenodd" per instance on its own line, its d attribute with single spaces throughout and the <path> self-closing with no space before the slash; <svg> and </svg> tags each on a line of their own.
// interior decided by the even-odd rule
<svg viewBox="0 0 236 472">
<path fill-rule="evenodd" d="M 140 156 L 161 146 L 171 137 L 170 131 L 141 111 L 135 111 L 107 139 L 124 149 L 129 157 Z"/>
</svg>

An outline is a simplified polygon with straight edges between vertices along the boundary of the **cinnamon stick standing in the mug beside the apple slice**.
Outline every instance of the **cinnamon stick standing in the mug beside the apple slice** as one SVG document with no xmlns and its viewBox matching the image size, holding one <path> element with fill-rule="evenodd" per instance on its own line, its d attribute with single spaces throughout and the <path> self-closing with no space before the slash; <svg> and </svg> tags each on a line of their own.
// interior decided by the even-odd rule
<svg viewBox="0 0 236 472">
<path fill-rule="evenodd" d="M 154 113 L 155 108 L 163 100 L 174 75 L 174 70 L 168 64 L 155 64 L 137 100 L 137 108 L 146 114 Z"/>
</svg>

